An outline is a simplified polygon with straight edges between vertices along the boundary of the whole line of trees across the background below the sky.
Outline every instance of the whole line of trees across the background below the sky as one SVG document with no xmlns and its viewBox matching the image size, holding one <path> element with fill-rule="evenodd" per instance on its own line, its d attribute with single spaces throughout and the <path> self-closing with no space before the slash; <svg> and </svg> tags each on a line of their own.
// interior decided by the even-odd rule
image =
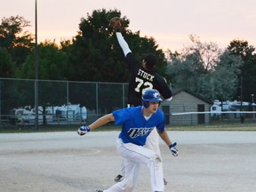
<svg viewBox="0 0 256 192">
<path fill-rule="evenodd" d="M 60 44 L 45 40 L 38 44 L 38 78 L 82 82 L 126 83 L 128 71 L 114 31 L 108 28 L 118 10 L 95 10 L 79 23 L 76 36 Z M 180 52 L 164 52 L 154 37 L 140 36 L 129 29 L 125 16 L 124 38 L 138 60 L 143 54 L 158 58 L 157 73 L 172 89 L 189 89 L 208 100 L 252 101 L 256 95 L 255 47 L 234 39 L 224 50 L 190 35 L 191 45 Z M 25 31 L 30 25 L 22 16 L 3 18 L 0 25 L 0 77 L 35 78 L 35 36 Z M 243 94 L 242 94 L 243 93 Z"/>
</svg>

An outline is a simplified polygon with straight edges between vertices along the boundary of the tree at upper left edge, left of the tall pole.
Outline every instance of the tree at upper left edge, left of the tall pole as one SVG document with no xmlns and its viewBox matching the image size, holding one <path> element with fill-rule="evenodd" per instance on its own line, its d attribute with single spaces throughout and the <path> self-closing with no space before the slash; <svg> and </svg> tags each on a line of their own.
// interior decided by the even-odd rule
<svg viewBox="0 0 256 192">
<path fill-rule="evenodd" d="M 10 62 L 13 62 L 16 68 L 20 68 L 33 47 L 33 36 L 28 31 L 23 31 L 28 26 L 28 20 L 19 15 L 2 19 L 0 25 L 0 47 L 11 55 Z M 14 77 L 14 72 L 8 74 L 8 77 Z"/>
</svg>

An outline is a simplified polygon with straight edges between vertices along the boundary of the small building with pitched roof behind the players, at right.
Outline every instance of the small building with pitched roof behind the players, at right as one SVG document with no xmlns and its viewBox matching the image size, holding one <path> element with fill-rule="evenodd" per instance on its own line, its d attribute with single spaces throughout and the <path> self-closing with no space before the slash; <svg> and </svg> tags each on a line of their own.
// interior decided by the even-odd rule
<svg viewBox="0 0 256 192">
<path fill-rule="evenodd" d="M 166 124 L 209 124 L 213 102 L 188 90 L 173 92 L 171 101 L 163 101 Z"/>
</svg>

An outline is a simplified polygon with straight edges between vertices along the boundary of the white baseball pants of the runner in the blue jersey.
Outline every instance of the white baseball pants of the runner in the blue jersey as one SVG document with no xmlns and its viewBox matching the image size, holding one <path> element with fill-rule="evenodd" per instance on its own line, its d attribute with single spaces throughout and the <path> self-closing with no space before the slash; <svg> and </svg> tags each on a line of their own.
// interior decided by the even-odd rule
<svg viewBox="0 0 256 192">
<path fill-rule="evenodd" d="M 137 185 L 141 164 L 147 164 L 152 191 L 164 191 L 161 157 L 155 151 L 132 143 L 117 140 L 118 153 L 124 157 L 124 180 L 104 192 L 131 192 Z"/>
</svg>

